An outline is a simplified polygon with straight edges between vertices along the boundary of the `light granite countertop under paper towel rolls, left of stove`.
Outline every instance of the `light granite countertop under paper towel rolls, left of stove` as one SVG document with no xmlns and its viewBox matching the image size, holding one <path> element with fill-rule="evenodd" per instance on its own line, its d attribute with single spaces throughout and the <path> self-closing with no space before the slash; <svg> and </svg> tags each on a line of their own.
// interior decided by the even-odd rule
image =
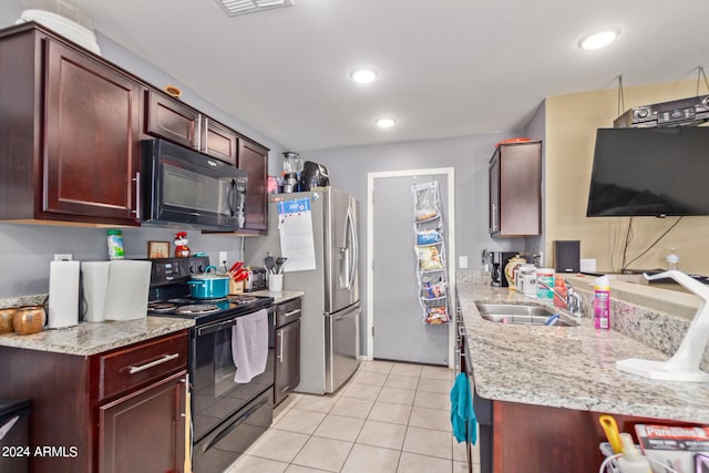
<svg viewBox="0 0 709 473">
<path fill-rule="evenodd" d="M 91 356 L 194 326 L 192 319 L 145 317 L 136 320 L 81 322 L 33 335 L 0 335 L 0 347 Z"/>
</svg>

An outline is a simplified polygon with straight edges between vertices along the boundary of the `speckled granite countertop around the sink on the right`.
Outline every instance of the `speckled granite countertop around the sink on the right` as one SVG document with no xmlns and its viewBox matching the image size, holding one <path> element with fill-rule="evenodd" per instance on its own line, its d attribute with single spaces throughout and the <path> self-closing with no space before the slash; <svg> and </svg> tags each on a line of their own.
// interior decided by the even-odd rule
<svg viewBox="0 0 709 473">
<path fill-rule="evenodd" d="M 458 292 L 480 397 L 709 423 L 709 383 L 655 381 L 615 368 L 626 358 L 667 360 L 661 351 L 620 331 L 596 330 L 589 318 L 580 327 L 491 322 L 480 317 L 475 301 L 542 302 L 465 280 Z"/>
</svg>

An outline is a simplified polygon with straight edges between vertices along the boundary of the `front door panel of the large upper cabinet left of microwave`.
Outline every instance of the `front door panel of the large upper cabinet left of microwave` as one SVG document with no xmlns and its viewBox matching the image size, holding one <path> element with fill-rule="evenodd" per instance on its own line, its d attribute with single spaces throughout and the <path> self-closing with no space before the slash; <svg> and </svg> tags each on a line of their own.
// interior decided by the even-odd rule
<svg viewBox="0 0 709 473">
<path fill-rule="evenodd" d="M 140 85 L 47 40 L 43 212 L 135 220 Z"/>
</svg>

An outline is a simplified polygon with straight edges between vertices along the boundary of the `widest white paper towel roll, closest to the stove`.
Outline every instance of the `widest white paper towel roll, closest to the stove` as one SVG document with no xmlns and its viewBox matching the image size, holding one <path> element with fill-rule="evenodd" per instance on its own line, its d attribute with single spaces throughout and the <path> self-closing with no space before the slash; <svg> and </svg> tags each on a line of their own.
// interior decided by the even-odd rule
<svg viewBox="0 0 709 473">
<path fill-rule="evenodd" d="M 106 320 L 133 320 L 147 317 L 151 261 L 110 261 Z"/>
</svg>

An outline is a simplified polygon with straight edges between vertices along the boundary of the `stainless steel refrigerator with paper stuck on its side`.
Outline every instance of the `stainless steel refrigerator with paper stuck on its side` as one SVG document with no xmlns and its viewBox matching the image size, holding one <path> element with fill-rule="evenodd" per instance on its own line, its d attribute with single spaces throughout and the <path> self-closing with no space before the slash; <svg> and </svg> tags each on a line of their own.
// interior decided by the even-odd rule
<svg viewBox="0 0 709 473">
<path fill-rule="evenodd" d="M 358 203 L 333 187 L 270 195 L 268 235 L 245 238 L 248 265 L 263 266 L 267 251 L 289 257 L 281 254 L 278 202 L 296 199 L 310 203 L 315 247 L 315 269 L 284 265 L 284 289 L 305 291 L 296 391 L 322 394 L 335 392 L 359 364 Z"/>
</svg>

